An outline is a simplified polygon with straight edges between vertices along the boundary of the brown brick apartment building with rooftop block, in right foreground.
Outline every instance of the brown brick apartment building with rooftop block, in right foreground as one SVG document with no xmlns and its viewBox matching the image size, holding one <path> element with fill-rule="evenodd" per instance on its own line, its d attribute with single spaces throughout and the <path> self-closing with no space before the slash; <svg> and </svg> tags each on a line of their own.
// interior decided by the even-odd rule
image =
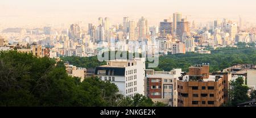
<svg viewBox="0 0 256 118">
<path fill-rule="evenodd" d="M 210 75 L 209 65 L 189 68 L 177 81 L 178 107 L 220 107 L 228 97 L 230 73 Z"/>
</svg>

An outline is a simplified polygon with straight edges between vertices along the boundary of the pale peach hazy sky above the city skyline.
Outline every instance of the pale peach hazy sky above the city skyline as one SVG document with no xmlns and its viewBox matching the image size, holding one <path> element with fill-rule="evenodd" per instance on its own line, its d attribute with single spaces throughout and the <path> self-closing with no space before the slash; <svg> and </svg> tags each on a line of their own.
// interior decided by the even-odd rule
<svg viewBox="0 0 256 118">
<path fill-rule="evenodd" d="M 1 0 L 0 26 L 35 26 L 61 23 L 96 23 L 109 17 L 121 23 L 123 16 L 137 20 L 145 16 L 151 25 L 172 16 L 188 15 L 188 20 L 206 22 L 238 16 L 256 21 L 255 0 Z"/>
</svg>

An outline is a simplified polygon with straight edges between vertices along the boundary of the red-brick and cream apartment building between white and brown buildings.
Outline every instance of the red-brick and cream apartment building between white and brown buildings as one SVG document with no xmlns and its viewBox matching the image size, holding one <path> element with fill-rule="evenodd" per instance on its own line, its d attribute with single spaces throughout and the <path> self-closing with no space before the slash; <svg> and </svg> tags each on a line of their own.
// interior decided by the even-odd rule
<svg viewBox="0 0 256 118">
<path fill-rule="evenodd" d="M 181 69 L 171 71 L 146 70 L 146 93 L 153 102 L 162 102 L 171 107 L 177 107 L 177 79 Z"/>
</svg>

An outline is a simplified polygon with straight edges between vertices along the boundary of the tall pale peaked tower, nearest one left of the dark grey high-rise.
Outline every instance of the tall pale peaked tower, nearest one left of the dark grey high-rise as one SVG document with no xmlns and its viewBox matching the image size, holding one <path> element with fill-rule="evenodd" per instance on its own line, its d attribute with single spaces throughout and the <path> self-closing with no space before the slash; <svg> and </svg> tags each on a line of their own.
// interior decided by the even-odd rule
<svg viewBox="0 0 256 118">
<path fill-rule="evenodd" d="M 139 39 L 147 39 L 149 35 L 149 29 L 147 25 L 147 19 L 145 19 L 143 16 L 141 19 L 139 19 L 138 22 L 138 28 L 139 28 Z"/>
</svg>

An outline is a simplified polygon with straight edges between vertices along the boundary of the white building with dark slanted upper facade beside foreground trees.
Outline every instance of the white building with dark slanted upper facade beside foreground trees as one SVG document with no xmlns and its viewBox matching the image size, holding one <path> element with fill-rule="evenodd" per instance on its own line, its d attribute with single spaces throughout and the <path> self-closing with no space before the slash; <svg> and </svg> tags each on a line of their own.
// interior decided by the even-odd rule
<svg viewBox="0 0 256 118">
<path fill-rule="evenodd" d="M 107 65 L 98 66 L 95 70 L 102 81 L 117 85 L 121 94 L 133 97 L 144 95 L 145 59 L 134 58 L 132 61 L 112 60 Z"/>
</svg>

